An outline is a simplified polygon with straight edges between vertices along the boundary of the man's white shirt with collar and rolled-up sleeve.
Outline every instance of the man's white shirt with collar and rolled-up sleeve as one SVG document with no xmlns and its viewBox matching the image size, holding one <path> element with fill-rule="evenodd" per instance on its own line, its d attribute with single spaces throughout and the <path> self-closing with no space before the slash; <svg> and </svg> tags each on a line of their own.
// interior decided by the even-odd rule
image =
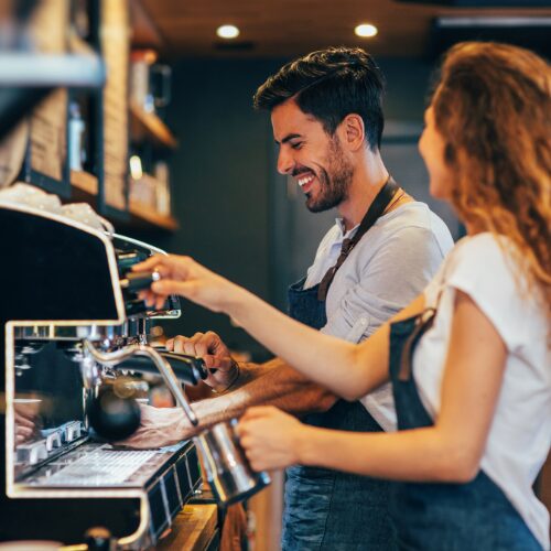
<svg viewBox="0 0 551 551">
<path fill-rule="evenodd" d="M 336 263 L 345 234 L 342 220 L 325 235 L 304 288 L 316 285 Z M 381 216 L 359 240 L 329 287 L 323 333 L 358 343 L 407 306 L 436 273 L 453 247 L 446 225 L 424 203 L 412 202 Z M 386 431 L 396 430 L 390 383 L 361 403 Z"/>
</svg>

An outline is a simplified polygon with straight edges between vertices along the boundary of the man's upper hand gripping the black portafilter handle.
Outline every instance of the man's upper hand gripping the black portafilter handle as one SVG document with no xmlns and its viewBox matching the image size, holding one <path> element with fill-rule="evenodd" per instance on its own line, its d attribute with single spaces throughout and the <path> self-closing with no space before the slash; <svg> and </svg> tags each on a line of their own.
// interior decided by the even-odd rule
<svg viewBox="0 0 551 551">
<path fill-rule="evenodd" d="M 205 382 L 222 392 L 230 387 L 239 376 L 237 363 L 229 354 L 222 338 L 212 331 L 195 333 L 193 337 L 179 335 L 166 341 L 166 349 L 176 354 L 188 354 L 202 358 L 208 369 Z"/>
</svg>

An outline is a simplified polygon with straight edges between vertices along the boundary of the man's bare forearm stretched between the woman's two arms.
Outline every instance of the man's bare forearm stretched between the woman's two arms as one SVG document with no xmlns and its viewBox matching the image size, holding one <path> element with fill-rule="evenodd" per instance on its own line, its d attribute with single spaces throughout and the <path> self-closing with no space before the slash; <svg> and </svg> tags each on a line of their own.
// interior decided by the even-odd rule
<svg viewBox="0 0 551 551">
<path fill-rule="evenodd" d="M 246 365 L 240 376 L 242 386 L 238 389 L 194 402 L 201 426 L 239 417 L 251 406 L 272 404 L 289 413 L 305 414 L 326 411 L 335 403 L 334 395 L 309 381 L 279 358 L 276 360 L 263 374 L 263 366 Z"/>
</svg>

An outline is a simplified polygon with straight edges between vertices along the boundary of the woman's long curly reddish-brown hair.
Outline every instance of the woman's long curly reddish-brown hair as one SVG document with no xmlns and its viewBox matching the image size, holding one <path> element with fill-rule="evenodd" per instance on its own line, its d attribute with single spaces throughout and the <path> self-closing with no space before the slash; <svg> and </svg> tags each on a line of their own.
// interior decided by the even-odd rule
<svg viewBox="0 0 551 551">
<path fill-rule="evenodd" d="M 551 71 L 528 50 L 461 43 L 432 98 L 452 203 L 474 227 L 511 240 L 551 317 Z M 515 264 L 519 266 L 518 262 Z"/>
</svg>

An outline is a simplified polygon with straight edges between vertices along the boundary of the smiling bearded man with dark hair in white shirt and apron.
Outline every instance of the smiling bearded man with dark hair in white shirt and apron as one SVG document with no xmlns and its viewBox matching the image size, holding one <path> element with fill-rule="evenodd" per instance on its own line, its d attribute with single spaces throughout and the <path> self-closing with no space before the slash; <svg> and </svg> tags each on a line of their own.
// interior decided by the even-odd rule
<svg viewBox="0 0 551 551">
<path fill-rule="evenodd" d="M 363 50 L 338 47 L 285 65 L 255 96 L 255 107 L 271 112 L 279 172 L 296 180 L 311 212 L 336 207 L 341 217 L 323 238 L 306 278 L 290 288 L 290 314 L 354 342 L 417 296 L 453 245 L 442 220 L 389 177 L 379 153 L 382 94 L 374 60 Z M 349 403 L 279 358 L 262 366 L 237 365 L 214 333 L 176 337 L 169 346 L 204 357 L 214 369 L 207 383 L 224 391 L 195 402 L 204 425 L 239 415 L 249 406 L 272 403 L 331 429 L 395 429 L 388 386 L 361 403 Z M 131 443 L 165 444 L 191 433 L 179 411 L 145 409 Z M 386 480 L 290 468 L 283 549 L 393 549 L 388 490 Z"/>
</svg>

